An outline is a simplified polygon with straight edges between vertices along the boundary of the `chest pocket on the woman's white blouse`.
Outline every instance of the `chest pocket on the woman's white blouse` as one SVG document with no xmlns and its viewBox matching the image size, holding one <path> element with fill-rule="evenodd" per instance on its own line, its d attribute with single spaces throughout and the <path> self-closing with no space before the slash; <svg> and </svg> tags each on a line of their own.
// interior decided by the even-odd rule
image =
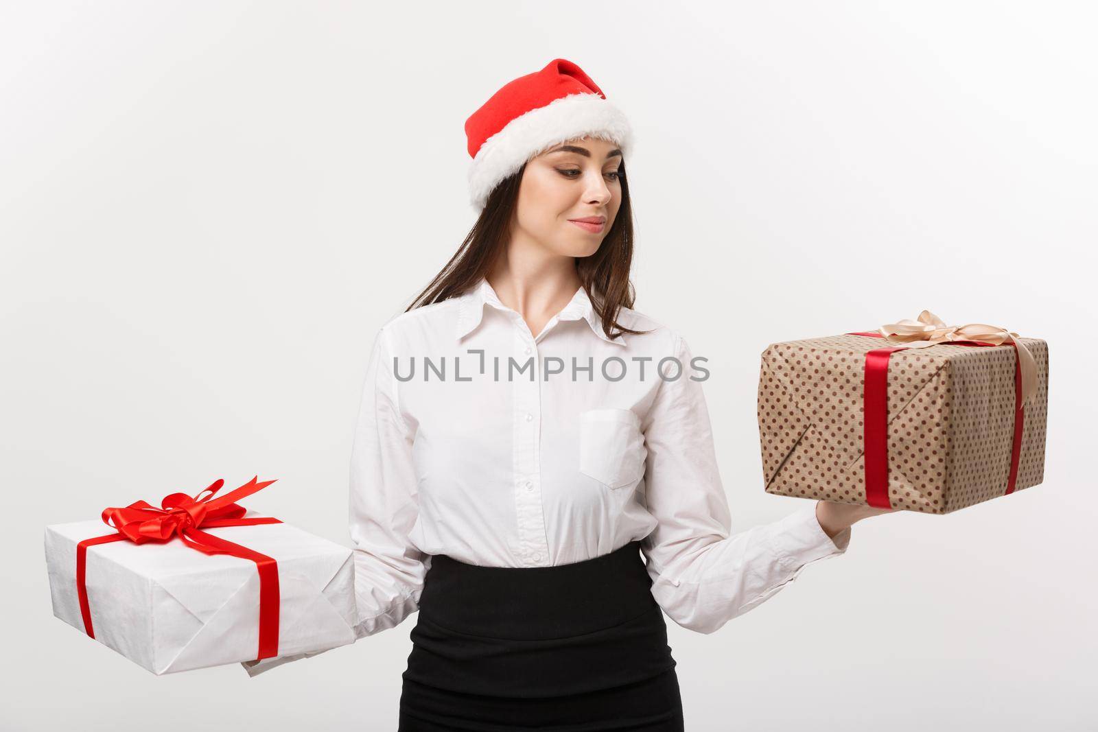
<svg viewBox="0 0 1098 732">
<path fill-rule="evenodd" d="M 621 488 L 645 473 L 645 436 L 630 409 L 580 413 L 580 472 L 608 488 Z"/>
</svg>

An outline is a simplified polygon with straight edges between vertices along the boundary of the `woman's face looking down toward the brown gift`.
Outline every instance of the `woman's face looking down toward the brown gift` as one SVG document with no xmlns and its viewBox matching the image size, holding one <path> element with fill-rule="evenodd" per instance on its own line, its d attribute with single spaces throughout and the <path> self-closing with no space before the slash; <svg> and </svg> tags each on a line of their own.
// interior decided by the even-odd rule
<svg viewBox="0 0 1098 732">
<path fill-rule="evenodd" d="M 567 257 L 598 250 L 621 204 L 617 145 L 580 137 L 550 147 L 526 164 L 512 236 L 533 239 Z M 601 225 L 575 219 L 602 219 Z"/>
</svg>

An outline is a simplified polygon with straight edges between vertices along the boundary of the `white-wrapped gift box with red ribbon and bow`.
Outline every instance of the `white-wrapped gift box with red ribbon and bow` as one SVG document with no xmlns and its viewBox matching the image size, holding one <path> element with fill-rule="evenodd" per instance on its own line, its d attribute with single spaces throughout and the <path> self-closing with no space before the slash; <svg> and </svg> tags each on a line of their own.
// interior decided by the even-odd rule
<svg viewBox="0 0 1098 732">
<path fill-rule="evenodd" d="M 352 643 L 351 551 L 234 503 L 271 482 L 47 527 L 54 615 L 157 675 Z"/>
</svg>

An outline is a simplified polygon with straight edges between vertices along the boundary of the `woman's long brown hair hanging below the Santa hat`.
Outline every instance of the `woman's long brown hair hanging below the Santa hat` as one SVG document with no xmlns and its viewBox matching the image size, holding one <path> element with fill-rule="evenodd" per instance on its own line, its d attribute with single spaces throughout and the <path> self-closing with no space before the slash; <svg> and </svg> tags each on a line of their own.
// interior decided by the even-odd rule
<svg viewBox="0 0 1098 732">
<path fill-rule="evenodd" d="M 525 170 L 524 164 L 517 172 L 502 180 L 492 190 L 466 240 L 405 312 L 458 297 L 488 274 L 496 257 L 507 246 L 511 219 L 518 203 L 518 184 Z M 576 274 L 580 275 L 592 306 L 602 318 L 603 331 L 607 338 L 615 338 L 621 333 L 648 333 L 632 330 L 617 323 L 620 308 L 631 308 L 636 297 L 629 281 L 632 264 L 632 209 L 629 204 L 629 183 L 624 160 L 618 167 L 618 173 L 621 181 L 621 204 L 610 230 L 606 233 L 595 254 L 575 258 Z M 613 328 L 618 328 L 618 333 L 612 334 Z"/>
</svg>

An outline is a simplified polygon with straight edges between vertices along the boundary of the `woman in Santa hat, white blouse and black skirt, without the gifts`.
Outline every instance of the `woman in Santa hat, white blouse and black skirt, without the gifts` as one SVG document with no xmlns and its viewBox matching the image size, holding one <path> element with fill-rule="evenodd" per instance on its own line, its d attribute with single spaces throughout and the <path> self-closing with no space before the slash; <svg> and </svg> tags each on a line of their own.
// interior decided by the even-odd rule
<svg viewBox="0 0 1098 732">
<path fill-rule="evenodd" d="M 883 511 L 817 502 L 730 536 L 704 359 L 632 309 L 629 125 L 575 64 L 466 132 L 480 217 L 373 344 L 357 634 L 418 611 L 403 732 L 682 730 L 663 612 L 710 633 Z"/>
</svg>

